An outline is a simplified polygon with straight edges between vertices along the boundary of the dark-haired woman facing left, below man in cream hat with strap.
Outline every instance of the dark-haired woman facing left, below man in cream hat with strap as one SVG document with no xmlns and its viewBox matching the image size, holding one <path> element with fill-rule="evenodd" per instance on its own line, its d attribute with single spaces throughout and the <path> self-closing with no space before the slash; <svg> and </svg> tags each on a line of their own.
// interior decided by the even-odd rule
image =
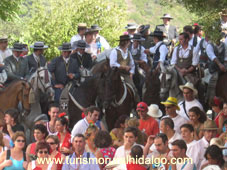
<svg viewBox="0 0 227 170">
<path fill-rule="evenodd" d="M 199 140 L 203 137 L 203 123 L 207 120 L 206 114 L 199 107 L 189 109 L 189 118 L 194 127 L 194 139 Z"/>
</svg>

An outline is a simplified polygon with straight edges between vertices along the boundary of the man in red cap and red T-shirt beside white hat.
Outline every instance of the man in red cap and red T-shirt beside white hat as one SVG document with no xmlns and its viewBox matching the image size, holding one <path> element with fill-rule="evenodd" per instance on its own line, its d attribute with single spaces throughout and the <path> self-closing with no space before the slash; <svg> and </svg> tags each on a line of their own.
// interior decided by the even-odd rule
<svg viewBox="0 0 227 170">
<path fill-rule="evenodd" d="M 154 105 L 153 107 L 156 108 L 157 112 L 161 112 L 157 105 Z M 138 103 L 136 111 L 138 112 L 138 115 L 140 117 L 139 129 L 141 131 L 145 132 L 147 136 L 156 135 L 157 133 L 159 133 L 158 122 L 150 115 L 148 115 L 148 106 L 146 103 Z"/>
</svg>

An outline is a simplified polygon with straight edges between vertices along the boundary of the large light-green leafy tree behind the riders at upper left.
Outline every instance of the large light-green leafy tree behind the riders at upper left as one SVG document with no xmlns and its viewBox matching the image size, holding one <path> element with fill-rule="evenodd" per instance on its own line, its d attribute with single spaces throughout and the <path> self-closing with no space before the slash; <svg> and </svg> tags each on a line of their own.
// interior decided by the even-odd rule
<svg viewBox="0 0 227 170">
<path fill-rule="evenodd" d="M 126 24 L 125 7 L 106 0 L 37 0 L 29 4 L 25 4 L 29 10 L 22 19 L 24 29 L 15 40 L 28 44 L 44 41 L 50 47 L 46 51 L 48 59 L 59 55 L 58 46 L 70 41 L 79 22 L 100 25 L 100 34 L 112 46 Z"/>
</svg>

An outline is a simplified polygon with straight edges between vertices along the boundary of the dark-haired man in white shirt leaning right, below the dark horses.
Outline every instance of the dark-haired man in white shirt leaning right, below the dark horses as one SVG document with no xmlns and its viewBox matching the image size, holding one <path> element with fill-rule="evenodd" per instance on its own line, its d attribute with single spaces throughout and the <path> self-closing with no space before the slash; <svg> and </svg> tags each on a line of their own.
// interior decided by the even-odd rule
<svg viewBox="0 0 227 170">
<path fill-rule="evenodd" d="M 73 140 L 74 136 L 76 134 L 84 134 L 89 126 L 90 123 L 95 124 L 98 121 L 100 109 L 96 106 L 90 106 L 86 109 L 84 112 L 85 118 L 79 120 L 73 127 L 73 130 L 71 132 L 71 140 Z"/>
</svg>

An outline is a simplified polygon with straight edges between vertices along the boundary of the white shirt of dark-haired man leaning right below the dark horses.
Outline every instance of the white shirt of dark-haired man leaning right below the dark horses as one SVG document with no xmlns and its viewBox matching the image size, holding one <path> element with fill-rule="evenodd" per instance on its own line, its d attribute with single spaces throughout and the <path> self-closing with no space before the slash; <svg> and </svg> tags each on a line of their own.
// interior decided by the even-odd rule
<svg viewBox="0 0 227 170">
<path fill-rule="evenodd" d="M 71 141 L 73 141 L 74 136 L 77 134 L 84 134 L 89 126 L 89 123 L 87 122 L 87 119 L 81 119 L 79 120 L 73 127 L 73 130 L 71 132 Z"/>
</svg>

